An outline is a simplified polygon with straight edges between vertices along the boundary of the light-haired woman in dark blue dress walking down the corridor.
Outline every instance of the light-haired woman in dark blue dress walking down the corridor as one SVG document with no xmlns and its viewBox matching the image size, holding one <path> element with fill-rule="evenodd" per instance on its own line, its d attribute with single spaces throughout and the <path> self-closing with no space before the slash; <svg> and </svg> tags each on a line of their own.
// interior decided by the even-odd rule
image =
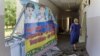
<svg viewBox="0 0 100 56">
<path fill-rule="evenodd" d="M 75 18 L 74 23 L 71 24 L 71 27 L 70 27 L 70 42 L 73 45 L 73 51 L 77 51 L 76 44 L 79 41 L 80 28 L 81 28 L 81 26 L 78 22 L 78 19 Z"/>
</svg>

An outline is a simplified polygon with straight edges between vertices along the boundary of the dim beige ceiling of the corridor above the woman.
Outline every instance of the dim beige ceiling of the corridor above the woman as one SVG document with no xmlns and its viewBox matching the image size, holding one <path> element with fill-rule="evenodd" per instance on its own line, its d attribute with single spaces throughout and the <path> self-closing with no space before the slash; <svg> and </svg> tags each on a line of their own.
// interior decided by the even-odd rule
<svg viewBox="0 0 100 56">
<path fill-rule="evenodd" d="M 79 9 L 79 6 L 82 0 L 50 0 L 53 4 L 65 11 L 76 11 Z"/>
</svg>

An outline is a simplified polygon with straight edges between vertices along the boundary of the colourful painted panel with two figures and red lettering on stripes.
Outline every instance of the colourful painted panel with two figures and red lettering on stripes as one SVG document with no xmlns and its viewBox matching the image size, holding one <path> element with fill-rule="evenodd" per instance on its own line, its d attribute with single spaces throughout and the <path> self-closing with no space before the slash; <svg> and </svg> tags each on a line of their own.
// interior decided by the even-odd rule
<svg viewBox="0 0 100 56">
<path fill-rule="evenodd" d="M 32 56 L 56 42 L 57 24 L 48 7 L 29 2 L 24 15 L 26 56 Z"/>
</svg>

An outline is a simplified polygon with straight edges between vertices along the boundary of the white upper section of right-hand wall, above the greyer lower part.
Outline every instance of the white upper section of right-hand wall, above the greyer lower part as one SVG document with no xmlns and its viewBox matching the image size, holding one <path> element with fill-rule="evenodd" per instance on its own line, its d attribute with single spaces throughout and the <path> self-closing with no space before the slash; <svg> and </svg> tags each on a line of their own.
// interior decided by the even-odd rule
<svg viewBox="0 0 100 56">
<path fill-rule="evenodd" d="M 100 16 L 100 0 L 91 0 L 87 14 L 88 18 Z"/>
</svg>

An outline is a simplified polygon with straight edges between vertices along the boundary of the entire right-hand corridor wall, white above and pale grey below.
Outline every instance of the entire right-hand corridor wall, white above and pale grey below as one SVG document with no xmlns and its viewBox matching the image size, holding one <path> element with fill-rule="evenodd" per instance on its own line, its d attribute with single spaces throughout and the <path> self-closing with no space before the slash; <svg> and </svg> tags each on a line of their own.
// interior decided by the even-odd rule
<svg viewBox="0 0 100 56">
<path fill-rule="evenodd" d="M 87 35 L 89 56 L 100 56 L 100 0 L 91 0 L 87 10 Z"/>
</svg>

